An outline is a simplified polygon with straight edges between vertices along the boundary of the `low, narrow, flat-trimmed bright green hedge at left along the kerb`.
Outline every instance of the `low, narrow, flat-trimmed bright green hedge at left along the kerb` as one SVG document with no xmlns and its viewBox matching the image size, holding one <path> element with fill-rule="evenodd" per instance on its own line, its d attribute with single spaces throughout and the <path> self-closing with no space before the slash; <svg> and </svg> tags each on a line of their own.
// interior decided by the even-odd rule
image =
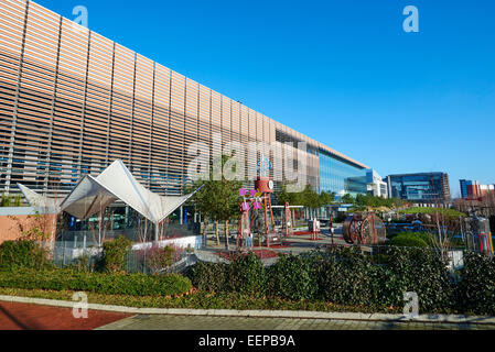
<svg viewBox="0 0 495 352">
<path fill-rule="evenodd" d="M 181 295 L 191 289 L 182 275 L 84 273 L 73 270 L 0 272 L 0 287 L 83 290 L 108 295 Z"/>
</svg>

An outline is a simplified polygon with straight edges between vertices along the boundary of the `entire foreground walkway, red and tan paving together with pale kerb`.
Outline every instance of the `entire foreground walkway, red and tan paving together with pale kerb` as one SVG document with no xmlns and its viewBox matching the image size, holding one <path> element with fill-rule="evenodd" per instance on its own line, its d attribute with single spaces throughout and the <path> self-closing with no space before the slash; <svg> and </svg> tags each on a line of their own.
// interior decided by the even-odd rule
<svg viewBox="0 0 495 352">
<path fill-rule="evenodd" d="M 88 304 L 73 317 L 73 301 L 0 296 L 0 330 L 495 330 L 495 317 L 134 308 Z"/>
</svg>

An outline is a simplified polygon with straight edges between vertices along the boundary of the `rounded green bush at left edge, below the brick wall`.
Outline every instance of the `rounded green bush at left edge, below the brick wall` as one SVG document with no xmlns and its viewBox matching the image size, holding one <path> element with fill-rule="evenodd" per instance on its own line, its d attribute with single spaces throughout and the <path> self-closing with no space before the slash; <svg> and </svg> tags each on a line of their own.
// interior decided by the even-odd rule
<svg viewBox="0 0 495 352">
<path fill-rule="evenodd" d="M 6 241 L 0 245 L 0 270 L 42 268 L 49 265 L 45 251 L 33 241 Z"/>
</svg>

